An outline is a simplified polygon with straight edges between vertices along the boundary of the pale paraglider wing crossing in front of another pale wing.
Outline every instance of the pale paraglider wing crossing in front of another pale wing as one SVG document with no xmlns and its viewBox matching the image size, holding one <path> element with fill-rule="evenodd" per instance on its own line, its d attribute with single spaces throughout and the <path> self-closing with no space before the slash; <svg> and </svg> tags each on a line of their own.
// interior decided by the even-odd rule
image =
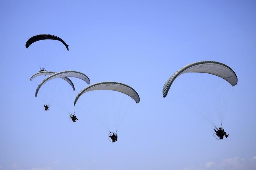
<svg viewBox="0 0 256 170">
<path fill-rule="evenodd" d="M 61 71 L 61 72 L 52 74 L 51 76 L 45 78 L 37 86 L 36 96 L 37 96 L 37 93 L 38 93 L 39 89 L 42 87 L 42 85 L 44 85 L 44 83 L 46 83 L 47 81 L 52 80 L 54 78 L 61 78 L 61 77 L 75 77 L 75 78 L 79 78 L 79 79 L 84 80 L 87 84 L 90 84 L 90 79 L 84 73 L 81 73 L 81 72 L 78 72 L 78 71 Z"/>
</svg>

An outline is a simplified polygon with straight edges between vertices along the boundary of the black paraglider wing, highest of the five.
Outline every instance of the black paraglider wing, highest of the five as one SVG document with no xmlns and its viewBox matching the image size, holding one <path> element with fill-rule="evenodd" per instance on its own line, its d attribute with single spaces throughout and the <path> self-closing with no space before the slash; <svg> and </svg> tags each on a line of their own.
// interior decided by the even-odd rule
<svg viewBox="0 0 256 170">
<path fill-rule="evenodd" d="M 36 41 L 40 41 L 40 40 L 58 40 L 58 41 L 62 42 L 68 50 L 68 45 L 65 41 L 63 41 L 60 37 L 57 37 L 57 36 L 51 35 L 51 34 L 39 34 L 39 35 L 35 35 L 35 36 L 31 37 L 26 42 L 26 48 L 28 48 L 32 43 L 34 43 Z"/>
</svg>

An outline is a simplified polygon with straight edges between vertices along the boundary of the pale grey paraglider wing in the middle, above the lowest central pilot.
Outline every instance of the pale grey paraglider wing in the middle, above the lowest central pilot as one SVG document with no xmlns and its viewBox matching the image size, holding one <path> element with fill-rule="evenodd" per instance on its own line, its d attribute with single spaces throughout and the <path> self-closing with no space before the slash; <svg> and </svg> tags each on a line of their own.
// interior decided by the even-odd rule
<svg viewBox="0 0 256 170">
<path fill-rule="evenodd" d="M 132 87 L 118 82 L 101 82 L 90 85 L 84 88 L 81 92 L 79 92 L 74 101 L 74 106 L 76 105 L 77 100 L 82 94 L 93 90 L 113 90 L 121 92 L 130 96 L 136 103 L 140 102 L 139 94 Z"/>
</svg>

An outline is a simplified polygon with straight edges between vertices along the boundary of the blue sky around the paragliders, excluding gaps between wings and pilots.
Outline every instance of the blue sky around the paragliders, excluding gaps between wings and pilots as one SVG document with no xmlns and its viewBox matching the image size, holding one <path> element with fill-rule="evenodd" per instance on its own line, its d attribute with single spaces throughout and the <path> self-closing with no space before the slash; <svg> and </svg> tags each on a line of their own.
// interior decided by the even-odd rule
<svg viewBox="0 0 256 170">
<path fill-rule="evenodd" d="M 1 1 L 0 169 L 256 169 L 255 8 L 249 0 Z M 39 66 L 25 48 L 41 33 L 69 45 L 47 70 L 81 71 L 91 83 L 122 82 L 140 94 L 117 143 L 94 115 L 80 112 L 71 123 L 58 107 L 43 111 L 29 81 Z M 176 70 L 202 60 L 238 77 L 222 141 L 162 96 Z M 76 94 L 86 86 L 74 84 Z"/>
</svg>

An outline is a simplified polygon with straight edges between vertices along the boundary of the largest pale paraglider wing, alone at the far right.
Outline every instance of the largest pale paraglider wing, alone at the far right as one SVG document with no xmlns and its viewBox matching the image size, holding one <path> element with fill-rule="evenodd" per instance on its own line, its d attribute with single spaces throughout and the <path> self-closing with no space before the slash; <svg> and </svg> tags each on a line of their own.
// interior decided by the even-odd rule
<svg viewBox="0 0 256 170">
<path fill-rule="evenodd" d="M 166 97 L 173 81 L 179 77 L 181 74 L 184 73 L 191 73 L 191 72 L 198 72 L 198 73 L 208 73 L 224 80 L 228 81 L 228 83 L 232 86 L 237 84 L 237 76 L 236 73 L 227 65 L 215 61 L 200 61 L 188 64 L 182 67 L 180 70 L 176 71 L 172 77 L 170 77 L 164 84 L 163 87 L 163 96 Z"/>
</svg>

